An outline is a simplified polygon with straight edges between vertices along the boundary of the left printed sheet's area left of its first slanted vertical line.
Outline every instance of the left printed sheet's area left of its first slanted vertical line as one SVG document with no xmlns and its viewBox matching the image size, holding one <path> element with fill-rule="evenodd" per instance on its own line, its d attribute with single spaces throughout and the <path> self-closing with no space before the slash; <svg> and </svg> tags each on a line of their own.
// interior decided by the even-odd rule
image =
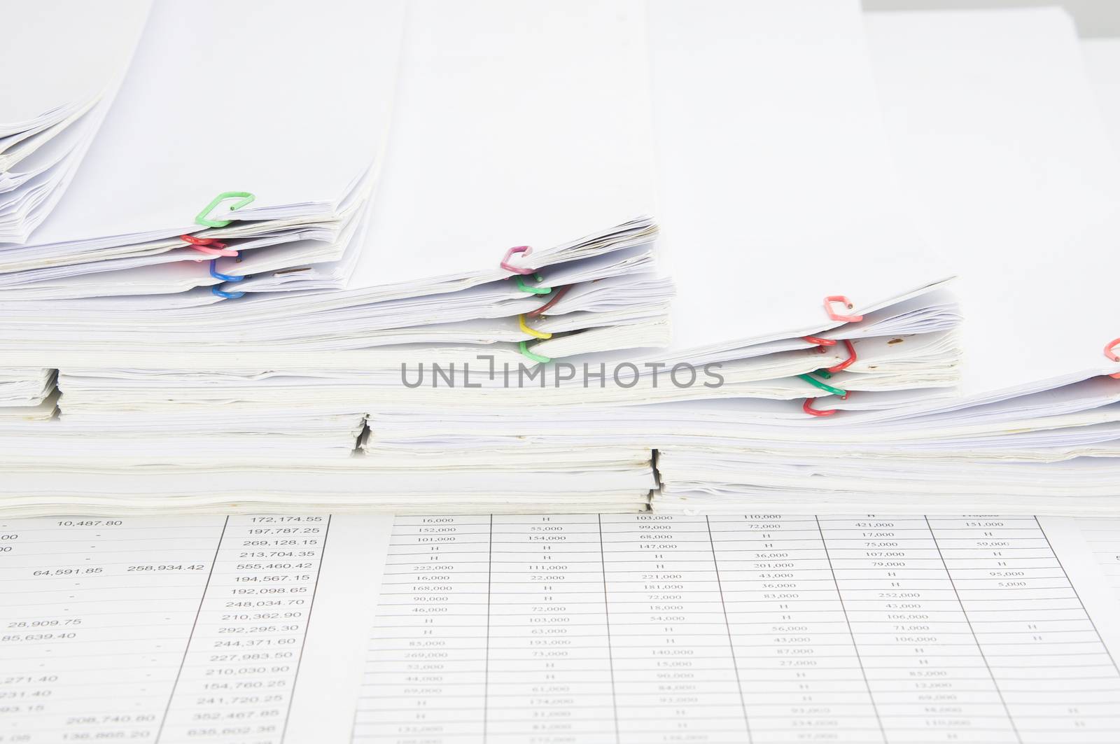
<svg viewBox="0 0 1120 744">
<path fill-rule="evenodd" d="M 224 524 L 0 521 L 0 742 L 155 742 Z"/>
</svg>

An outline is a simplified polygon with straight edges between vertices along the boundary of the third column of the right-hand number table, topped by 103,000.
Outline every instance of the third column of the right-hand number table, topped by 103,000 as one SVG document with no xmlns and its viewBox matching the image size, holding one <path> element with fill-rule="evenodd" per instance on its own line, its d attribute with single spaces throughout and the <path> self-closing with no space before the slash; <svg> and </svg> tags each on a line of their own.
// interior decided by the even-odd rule
<svg viewBox="0 0 1120 744">
<path fill-rule="evenodd" d="M 746 742 L 703 517 L 601 515 L 620 741 Z"/>
</svg>

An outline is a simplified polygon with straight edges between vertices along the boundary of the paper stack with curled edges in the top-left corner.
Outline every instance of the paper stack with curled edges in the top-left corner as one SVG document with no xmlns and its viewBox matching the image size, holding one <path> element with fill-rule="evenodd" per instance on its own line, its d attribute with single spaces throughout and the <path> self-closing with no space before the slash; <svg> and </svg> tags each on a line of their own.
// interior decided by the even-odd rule
<svg viewBox="0 0 1120 744">
<path fill-rule="evenodd" d="M 62 198 L 113 104 L 149 0 L 44 0 L 3 9 L 0 250 Z"/>
</svg>

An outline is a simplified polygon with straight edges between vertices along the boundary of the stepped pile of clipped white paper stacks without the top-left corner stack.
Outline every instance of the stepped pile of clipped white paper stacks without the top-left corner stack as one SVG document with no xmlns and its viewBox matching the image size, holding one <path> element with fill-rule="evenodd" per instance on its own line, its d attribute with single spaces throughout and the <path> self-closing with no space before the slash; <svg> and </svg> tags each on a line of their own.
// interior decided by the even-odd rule
<svg viewBox="0 0 1120 744">
<path fill-rule="evenodd" d="M 1118 161 L 1061 11 L 213 4 L 152 8 L 0 243 L 2 508 L 1120 495 Z"/>
</svg>

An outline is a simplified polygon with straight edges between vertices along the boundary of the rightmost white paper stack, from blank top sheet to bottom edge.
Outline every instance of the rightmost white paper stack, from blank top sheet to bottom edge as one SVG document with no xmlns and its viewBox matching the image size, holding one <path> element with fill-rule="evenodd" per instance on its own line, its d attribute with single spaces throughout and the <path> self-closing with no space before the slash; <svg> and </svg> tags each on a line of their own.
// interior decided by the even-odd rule
<svg viewBox="0 0 1120 744">
<path fill-rule="evenodd" d="M 806 437 L 744 421 L 722 441 L 662 447 L 655 506 L 1112 509 L 1120 161 L 1072 21 L 1034 9 L 872 13 L 867 27 L 913 212 L 962 276 L 961 397 L 844 411 Z"/>
</svg>

